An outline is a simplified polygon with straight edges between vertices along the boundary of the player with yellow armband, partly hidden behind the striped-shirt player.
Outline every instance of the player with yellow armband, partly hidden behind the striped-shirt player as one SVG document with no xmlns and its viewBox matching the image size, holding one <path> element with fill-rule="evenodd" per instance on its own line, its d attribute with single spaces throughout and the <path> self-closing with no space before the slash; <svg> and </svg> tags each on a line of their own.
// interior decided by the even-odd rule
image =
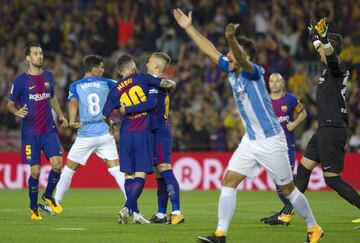
<svg viewBox="0 0 360 243">
<path fill-rule="evenodd" d="M 294 129 L 305 120 L 307 114 L 300 100 L 294 95 L 285 91 L 285 81 L 280 73 L 273 73 L 269 78 L 270 99 L 274 108 L 275 116 L 278 118 L 282 129 L 285 132 L 288 146 L 288 154 L 291 169 L 295 166 L 295 134 Z M 294 118 L 296 114 L 296 118 Z M 276 185 L 277 193 L 281 201 L 286 204 L 287 199 Z M 292 218 L 292 207 L 284 207 L 279 213 L 273 216 L 262 218 L 265 224 L 288 225 Z"/>
</svg>

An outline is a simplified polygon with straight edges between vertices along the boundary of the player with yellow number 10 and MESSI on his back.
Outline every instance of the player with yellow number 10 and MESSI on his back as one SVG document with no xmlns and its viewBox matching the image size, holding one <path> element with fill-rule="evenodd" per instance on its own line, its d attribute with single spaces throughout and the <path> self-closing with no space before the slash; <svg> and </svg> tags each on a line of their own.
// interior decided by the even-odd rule
<svg viewBox="0 0 360 243">
<path fill-rule="evenodd" d="M 133 113 L 131 107 L 150 100 L 148 110 L 152 110 L 157 104 L 157 89 L 151 86 L 168 88 L 174 86 L 175 82 L 137 73 L 136 64 L 129 55 L 121 56 L 117 65 L 122 79 L 110 90 L 103 116 L 113 128 L 115 123 L 109 116 L 114 109 L 126 107 L 127 113 L 131 114 L 122 118 L 120 128 L 120 169 L 125 173 L 127 200 L 119 212 L 119 222 L 127 224 L 130 214 L 133 213 L 135 222 L 148 224 L 150 222 L 137 208 L 137 200 L 144 188 L 146 175 L 153 172 L 151 121 L 149 112 Z"/>
</svg>

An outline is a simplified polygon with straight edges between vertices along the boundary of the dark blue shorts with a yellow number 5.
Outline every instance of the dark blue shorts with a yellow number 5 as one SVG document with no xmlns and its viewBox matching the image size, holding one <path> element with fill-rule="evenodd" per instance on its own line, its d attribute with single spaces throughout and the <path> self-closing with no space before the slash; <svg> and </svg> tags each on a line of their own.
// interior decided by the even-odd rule
<svg viewBox="0 0 360 243">
<path fill-rule="evenodd" d="M 22 136 L 21 158 L 23 163 L 40 165 L 41 150 L 46 159 L 61 156 L 61 146 L 57 132 L 50 132 L 39 136 Z"/>
</svg>

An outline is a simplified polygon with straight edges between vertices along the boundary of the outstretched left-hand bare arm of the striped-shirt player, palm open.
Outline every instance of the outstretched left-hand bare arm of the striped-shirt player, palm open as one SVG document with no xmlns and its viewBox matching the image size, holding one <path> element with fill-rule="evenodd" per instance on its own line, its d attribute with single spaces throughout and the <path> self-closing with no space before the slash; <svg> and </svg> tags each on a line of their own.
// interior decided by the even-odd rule
<svg viewBox="0 0 360 243">
<path fill-rule="evenodd" d="M 189 37 L 195 42 L 196 46 L 216 64 L 218 63 L 221 53 L 215 48 L 215 46 L 206 39 L 205 36 L 200 34 L 192 25 L 192 14 L 184 14 L 179 8 L 173 10 L 173 15 L 176 22 L 181 28 L 183 28 Z"/>
</svg>

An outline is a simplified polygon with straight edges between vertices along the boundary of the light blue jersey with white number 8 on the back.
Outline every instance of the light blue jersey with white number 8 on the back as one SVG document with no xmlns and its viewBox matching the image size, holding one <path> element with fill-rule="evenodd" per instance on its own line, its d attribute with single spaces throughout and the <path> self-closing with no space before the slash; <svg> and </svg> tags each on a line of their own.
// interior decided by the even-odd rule
<svg viewBox="0 0 360 243">
<path fill-rule="evenodd" d="M 68 100 L 78 100 L 82 124 L 78 129 L 79 137 L 97 137 L 108 132 L 108 126 L 102 119 L 101 111 L 114 84 L 116 81 L 111 79 L 87 77 L 70 85 Z"/>
</svg>

